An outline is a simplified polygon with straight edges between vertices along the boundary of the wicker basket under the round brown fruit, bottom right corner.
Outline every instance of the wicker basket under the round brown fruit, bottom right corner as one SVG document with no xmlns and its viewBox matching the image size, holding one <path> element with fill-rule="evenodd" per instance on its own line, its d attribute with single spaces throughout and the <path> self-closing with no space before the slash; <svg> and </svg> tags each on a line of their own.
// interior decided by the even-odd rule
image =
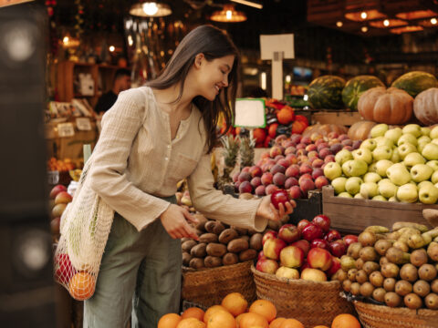
<svg viewBox="0 0 438 328">
<path fill-rule="evenodd" d="M 408 308 L 391 308 L 354 301 L 360 322 L 365 328 L 437 328 L 438 311 Z"/>
</svg>

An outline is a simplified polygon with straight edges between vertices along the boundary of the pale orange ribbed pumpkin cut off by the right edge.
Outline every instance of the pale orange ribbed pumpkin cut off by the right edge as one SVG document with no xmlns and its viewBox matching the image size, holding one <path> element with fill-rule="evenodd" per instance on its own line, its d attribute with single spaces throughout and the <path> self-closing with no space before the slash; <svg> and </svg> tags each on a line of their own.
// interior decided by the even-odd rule
<svg viewBox="0 0 438 328">
<path fill-rule="evenodd" d="M 415 97 L 413 113 L 425 126 L 438 123 L 438 87 L 428 88 Z"/>
</svg>

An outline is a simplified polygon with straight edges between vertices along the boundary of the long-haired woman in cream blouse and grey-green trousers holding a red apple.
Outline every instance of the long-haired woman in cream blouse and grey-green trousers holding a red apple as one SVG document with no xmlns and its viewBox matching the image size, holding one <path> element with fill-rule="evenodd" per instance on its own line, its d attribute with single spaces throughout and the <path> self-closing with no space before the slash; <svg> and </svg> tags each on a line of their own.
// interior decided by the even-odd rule
<svg viewBox="0 0 438 328">
<path fill-rule="evenodd" d="M 197 239 L 193 216 L 175 205 L 176 183 L 187 178 L 194 207 L 212 219 L 263 231 L 276 210 L 269 198 L 236 200 L 214 190 L 210 155 L 220 112 L 229 125 L 238 56 L 213 26 L 183 38 L 157 79 L 120 93 L 104 115 L 89 177 L 115 210 L 96 292 L 85 302 L 85 327 L 156 327 L 177 313 L 181 241 Z"/>
</svg>

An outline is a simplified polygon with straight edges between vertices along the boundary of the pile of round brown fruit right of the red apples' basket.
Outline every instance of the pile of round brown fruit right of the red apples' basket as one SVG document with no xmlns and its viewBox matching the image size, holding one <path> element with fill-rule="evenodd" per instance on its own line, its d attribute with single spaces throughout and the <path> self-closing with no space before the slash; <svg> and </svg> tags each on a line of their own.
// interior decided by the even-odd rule
<svg viewBox="0 0 438 328">
<path fill-rule="evenodd" d="M 345 292 L 391 307 L 438 310 L 438 227 L 370 226 L 349 245 L 333 279 Z"/>
</svg>

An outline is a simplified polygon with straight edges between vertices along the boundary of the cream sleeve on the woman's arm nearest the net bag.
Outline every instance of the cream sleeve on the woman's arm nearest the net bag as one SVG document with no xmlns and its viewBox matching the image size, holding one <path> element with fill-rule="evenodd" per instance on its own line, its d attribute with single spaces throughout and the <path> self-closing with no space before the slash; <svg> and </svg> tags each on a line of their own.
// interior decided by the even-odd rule
<svg viewBox="0 0 438 328">
<path fill-rule="evenodd" d="M 114 106 L 102 118 L 102 130 L 89 173 L 93 190 L 138 231 L 170 205 L 168 201 L 140 190 L 127 176 L 132 143 L 147 115 L 147 107 L 146 97 L 141 92 L 120 93 Z"/>
</svg>

